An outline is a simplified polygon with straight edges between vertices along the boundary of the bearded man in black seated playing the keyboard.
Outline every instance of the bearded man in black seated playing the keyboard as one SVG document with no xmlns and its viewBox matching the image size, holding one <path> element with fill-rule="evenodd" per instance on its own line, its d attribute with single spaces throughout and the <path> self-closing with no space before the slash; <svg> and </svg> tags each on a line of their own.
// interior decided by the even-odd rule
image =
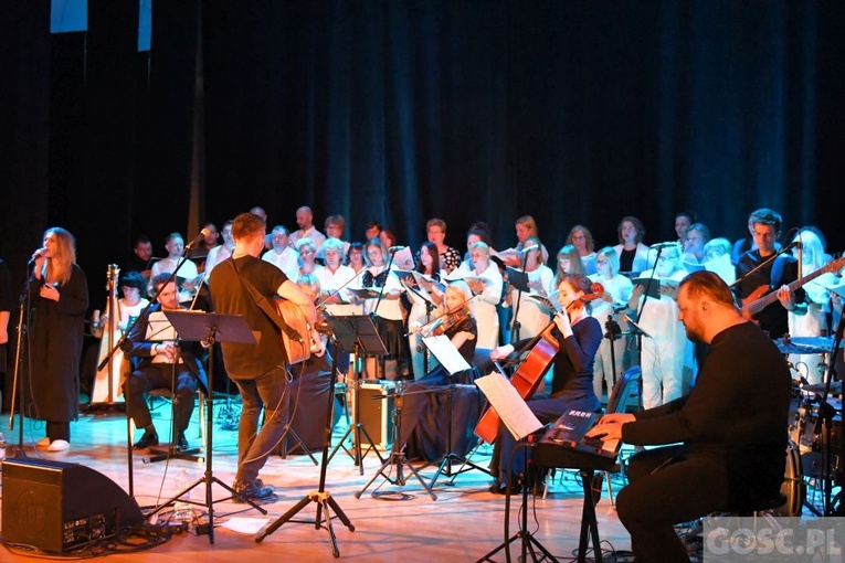
<svg viewBox="0 0 845 563">
<path fill-rule="evenodd" d="M 673 524 L 752 507 L 783 482 L 790 372 L 780 352 L 711 272 L 684 278 L 678 309 L 687 338 L 709 344 L 696 386 L 636 415 L 604 416 L 588 433 L 664 446 L 631 458 L 616 498 L 638 562 L 689 561 Z"/>
</svg>

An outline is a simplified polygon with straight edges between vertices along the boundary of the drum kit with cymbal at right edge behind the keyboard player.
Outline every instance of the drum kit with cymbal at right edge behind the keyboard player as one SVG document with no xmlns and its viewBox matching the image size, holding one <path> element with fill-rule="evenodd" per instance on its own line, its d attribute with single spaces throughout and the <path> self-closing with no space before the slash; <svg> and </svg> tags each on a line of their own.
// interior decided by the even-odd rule
<svg viewBox="0 0 845 563">
<path fill-rule="evenodd" d="M 820 369 L 827 370 L 827 362 L 837 360 L 833 354 L 833 337 L 785 337 L 775 340 L 778 349 L 796 372 L 793 378 L 794 405 L 790 410 L 789 446 L 786 448 L 786 470 L 781 492 L 786 503 L 778 511 L 782 516 L 800 516 L 806 507 L 816 516 L 834 516 L 845 509 L 839 503 L 839 495 L 831 499 L 833 487 L 843 488 L 845 484 L 845 443 L 842 425 L 842 381 L 823 378 L 822 383 L 809 383 L 809 373 L 802 373 L 799 365 L 789 362 L 791 354 L 821 354 Z M 835 370 L 834 370 L 835 372 Z M 805 480 L 809 478 L 809 480 Z M 823 507 L 820 509 L 805 499 L 807 482 L 823 493 Z"/>
</svg>

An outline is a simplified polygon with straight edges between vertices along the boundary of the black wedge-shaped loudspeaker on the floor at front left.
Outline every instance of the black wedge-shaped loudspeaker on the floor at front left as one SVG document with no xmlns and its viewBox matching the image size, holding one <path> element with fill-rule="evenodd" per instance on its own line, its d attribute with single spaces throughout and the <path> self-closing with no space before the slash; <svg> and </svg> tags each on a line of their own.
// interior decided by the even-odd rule
<svg viewBox="0 0 845 563">
<path fill-rule="evenodd" d="M 78 464 L 3 461 L 3 543 L 65 553 L 144 521 L 115 481 Z"/>
</svg>

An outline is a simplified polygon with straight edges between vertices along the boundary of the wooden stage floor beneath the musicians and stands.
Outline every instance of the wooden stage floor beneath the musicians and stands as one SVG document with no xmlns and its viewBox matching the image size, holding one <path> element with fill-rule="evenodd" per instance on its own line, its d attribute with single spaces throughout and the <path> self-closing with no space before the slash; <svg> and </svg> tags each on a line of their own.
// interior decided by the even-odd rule
<svg viewBox="0 0 845 563">
<path fill-rule="evenodd" d="M 240 405 L 235 405 L 240 406 Z M 215 418 L 223 404 L 215 404 Z M 191 444 L 200 444 L 198 413 L 188 429 Z M 154 411 L 154 421 L 159 434 L 167 436 L 170 416 L 169 407 Z M 17 422 L 17 421 L 15 421 Z M 18 426 L 9 432 L 9 416 L 4 415 L 0 429 L 7 436 L 9 450 L 18 443 Z M 337 444 L 346 431 L 341 419 L 334 433 L 332 443 Z M 213 475 L 230 484 L 236 468 L 236 431 L 222 429 L 220 422 L 213 428 Z M 68 452 L 51 455 L 36 452 L 34 443 L 44 436 L 43 423 L 25 419 L 23 424 L 23 445 L 28 457 L 78 463 L 91 467 L 128 492 L 129 470 L 126 450 L 126 417 L 122 413 L 86 413 L 72 424 L 72 446 Z M 315 456 L 319 460 L 320 453 Z M 473 458 L 486 467 L 489 463 L 489 448 Z M 176 492 L 176 476 L 181 468 L 188 470 L 191 482 L 202 477 L 204 463 L 175 459 L 158 463 L 145 463 L 144 456 L 133 458 L 134 498 L 141 507 L 155 507 Z M 505 497 L 487 491 L 490 478 L 478 470 L 460 475 L 454 486 L 446 485 L 441 477 L 434 487 L 437 500 L 432 500 L 413 475 L 405 471 L 404 486 L 393 486 L 379 477 L 363 492 L 360 499 L 355 497 L 376 475 L 380 461 L 373 453 L 363 460 L 363 475 L 355 466 L 353 459 L 342 449 L 328 465 L 326 490 L 338 502 L 355 525 L 349 531 L 337 518 L 334 529 L 340 556 L 353 561 L 476 561 L 488 551 L 499 545 L 505 538 Z M 419 464 L 415 464 L 421 467 Z M 391 467 L 394 469 L 394 466 Z M 421 469 L 429 482 L 436 467 Z M 561 477 L 561 474 L 563 476 Z M 391 472 L 394 475 L 394 472 Z M 331 543 L 326 529 L 315 529 L 316 504 L 309 503 L 293 521 L 285 523 L 262 543 L 255 542 L 255 534 L 239 533 L 225 528 L 234 518 L 256 520 L 270 524 L 294 507 L 297 501 L 319 485 L 319 467 L 307 456 L 288 456 L 282 459 L 273 456 L 267 460 L 262 474 L 266 484 L 276 486 L 276 499 L 263 507 L 268 511 L 262 516 L 254 509 L 244 509 L 229 500 L 214 503 L 214 544 L 208 535 L 196 535 L 193 531 L 173 535 L 170 541 L 149 551 L 128 554 L 108 555 L 108 561 L 140 562 L 155 556 L 160 562 L 182 562 L 186 555 L 200 555 L 203 561 L 245 561 L 250 556 L 284 556 L 297 561 L 332 560 Z M 614 482 L 614 487 L 621 484 Z M 383 498 L 373 498 L 372 492 L 393 492 Z M 556 557 L 570 560 L 577 550 L 581 520 L 580 482 L 572 471 L 558 471 L 546 499 L 529 497 L 528 529 Z M 224 499 L 228 491 L 213 486 L 214 499 Z M 193 489 L 192 500 L 204 501 L 204 486 Z M 509 533 L 518 529 L 518 507 L 520 498 L 514 499 L 510 508 Z M 606 488 L 596 507 L 599 528 L 603 549 L 629 550 L 630 541 L 620 524 L 614 509 L 608 501 Z M 162 518 L 169 516 L 166 509 Z M 194 507 L 196 521 L 208 522 L 204 506 Z M 519 543 L 513 544 L 513 556 L 518 555 Z M 0 548 L 0 559 L 9 562 L 32 561 L 31 555 L 17 554 L 7 548 Z M 504 552 L 494 557 L 505 561 Z"/>
</svg>

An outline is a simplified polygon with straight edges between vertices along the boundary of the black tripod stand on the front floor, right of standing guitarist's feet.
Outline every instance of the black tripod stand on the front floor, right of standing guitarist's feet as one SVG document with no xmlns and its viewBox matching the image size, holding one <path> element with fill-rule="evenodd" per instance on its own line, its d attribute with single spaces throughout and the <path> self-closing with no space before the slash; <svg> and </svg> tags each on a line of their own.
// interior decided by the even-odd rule
<svg viewBox="0 0 845 563">
<path fill-rule="evenodd" d="M 329 325 L 332 325 L 332 333 L 335 331 L 335 325 L 332 323 L 332 320 L 329 320 Z M 337 370 L 337 354 L 335 354 L 335 359 L 331 362 L 331 376 L 334 378 L 335 371 Z M 329 539 L 331 540 L 331 555 L 335 556 L 335 559 L 340 556 L 340 550 L 337 546 L 337 537 L 335 537 L 335 529 L 331 525 L 331 511 L 334 510 L 337 517 L 340 519 L 340 521 L 346 525 L 350 532 L 355 531 L 355 525 L 349 520 L 349 518 L 344 513 L 344 511 L 340 509 L 340 506 L 337 503 L 337 501 L 331 497 L 331 493 L 326 490 L 326 469 L 328 467 L 328 450 L 329 450 L 329 444 L 331 442 L 331 422 L 334 419 L 334 411 L 335 411 L 335 393 L 332 392 L 331 386 L 329 386 L 329 390 L 327 392 L 328 394 L 328 408 L 326 410 L 326 424 L 324 426 L 324 435 L 323 435 L 323 460 L 320 464 L 320 482 L 319 488 L 317 490 L 314 490 L 309 492 L 307 496 L 303 497 L 299 502 L 294 504 L 291 510 L 278 517 L 272 524 L 270 524 L 266 530 L 261 532 L 258 535 L 255 537 L 255 542 L 261 543 L 264 541 L 264 539 L 278 530 L 282 524 L 289 521 L 294 516 L 296 516 L 302 509 L 304 509 L 306 506 L 308 506 L 311 502 L 315 502 L 317 504 L 317 516 L 314 519 L 314 528 L 315 530 L 319 530 L 320 522 L 325 519 L 326 522 L 326 530 L 329 533 Z M 337 452 L 337 450 L 336 450 Z"/>
</svg>

